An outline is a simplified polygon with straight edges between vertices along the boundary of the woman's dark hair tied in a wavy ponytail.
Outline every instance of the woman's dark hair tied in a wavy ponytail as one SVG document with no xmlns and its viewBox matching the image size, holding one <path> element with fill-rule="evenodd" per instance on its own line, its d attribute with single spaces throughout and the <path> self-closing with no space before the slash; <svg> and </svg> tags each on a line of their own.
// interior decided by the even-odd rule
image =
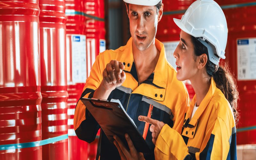
<svg viewBox="0 0 256 160">
<path fill-rule="evenodd" d="M 208 56 L 207 47 L 205 47 L 200 41 L 194 36 L 192 37 L 192 43 L 194 44 L 194 51 L 196 56 L 200 56 L 206 53 Z M 208 56 L 209 57 L 209 56 Z M 226 99 L 230 103 L 236 124 L 239 120 L 239 113 L 237 111 L 237 101 L 239 99 L 236 80 L 231 74 L 228 65 L 224 62 L 221 66 L 213 64 L 209 58 L 206 63 L 206 72 L 209 76 L 213 77 L 216 87 L 225 95 Z"/>
</svg>

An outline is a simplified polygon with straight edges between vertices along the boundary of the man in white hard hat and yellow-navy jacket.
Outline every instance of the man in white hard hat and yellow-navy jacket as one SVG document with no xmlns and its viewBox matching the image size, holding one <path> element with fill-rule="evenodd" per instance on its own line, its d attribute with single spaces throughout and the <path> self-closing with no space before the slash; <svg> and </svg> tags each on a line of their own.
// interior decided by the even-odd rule
<svg viewBox="0 0 256 160">
<path fill-rule="evenodd" d="M 81 97 L 119 99 L 152 149 L 152 153 L 144 157 L 154 159 L 155 146 L 149 124 L 139 121 L 138 116 L 157 119 L 181 132 L 189 97 L 185 85 L 176 79 L 175 70 L 166 60 L 164 45 L 155 39 L 157 24 L 163 15 L 162 0 L 124 2 L 132 37 L 125 46 L 97 56 Z M 77 137 L 90 143 L 99 128 L 79 100 L 74 117 Z M 117 148 L 104 132 L 100 137 L 100 159 L 120 159 Z"/>
</svg>

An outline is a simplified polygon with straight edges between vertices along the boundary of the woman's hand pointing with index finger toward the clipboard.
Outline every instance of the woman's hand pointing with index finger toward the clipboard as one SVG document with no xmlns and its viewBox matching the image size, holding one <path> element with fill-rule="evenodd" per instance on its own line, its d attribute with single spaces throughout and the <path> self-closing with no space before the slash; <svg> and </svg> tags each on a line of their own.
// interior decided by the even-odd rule
<svg viewBox="0 0 256 160">
<path fill-rule="evenodd" d="M 156 145 L 156 140 L 164 126 L 164 122 L 160 122 L 146 116 L 139 116 L 139 120 L 151 124 L 149 131 L 152 132 L 152 142 Z"/>
</svg>

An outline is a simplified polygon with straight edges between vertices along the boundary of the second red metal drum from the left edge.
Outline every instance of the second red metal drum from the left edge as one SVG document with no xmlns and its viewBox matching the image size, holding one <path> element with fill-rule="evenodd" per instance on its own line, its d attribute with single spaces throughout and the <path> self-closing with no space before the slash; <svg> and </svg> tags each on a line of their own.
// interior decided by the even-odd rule
<svg viewBox="0 0 256 160">
<path fill-rule="evenodd" d="M 39 1 L 42 139 L 68 134 L 64 0 Z M 68 139 L 43 146 L 43 159 L 68 159 Z"/>
</svg>

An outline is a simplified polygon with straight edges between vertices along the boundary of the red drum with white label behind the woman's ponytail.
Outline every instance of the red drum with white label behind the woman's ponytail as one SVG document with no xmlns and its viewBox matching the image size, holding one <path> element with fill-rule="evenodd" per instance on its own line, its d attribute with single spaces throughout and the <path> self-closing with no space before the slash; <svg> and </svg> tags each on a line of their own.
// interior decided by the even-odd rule
<svg viewBox="0 0 256 160">
<path fill-rule="evenodd" d="M 217 3 L 228 23 L 225 60 L 236 77 L 240 96 L 237 144 L 256 144 L 256 2 L 229 0 Z"/>
</svg>

